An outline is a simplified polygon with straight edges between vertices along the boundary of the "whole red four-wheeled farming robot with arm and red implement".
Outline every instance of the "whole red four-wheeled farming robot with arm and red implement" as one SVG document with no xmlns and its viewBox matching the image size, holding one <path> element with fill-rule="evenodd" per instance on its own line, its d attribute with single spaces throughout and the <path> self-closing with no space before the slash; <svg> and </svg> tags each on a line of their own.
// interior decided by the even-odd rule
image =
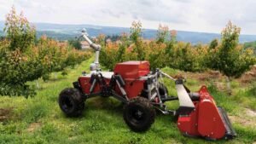
<svg viewBox="0 0 256 144">
<path fill-rule="evenodd" d="M 113 96 L 124 103 L 123 117 L 133 131 L 148 130 L 154 123 L 155 110 L 177 116 L 177 127 L 183 135 L 204 137 L 210 140 L 232 139 L 236 131 L 224 109 L 216 106 L 212 95 L 202 86 L 192 93 L 181 78 L 172 78 L 160 69 L 149 71 L 149 63 L 126 61 L 114 66 L 113 72 L 102 72 L 99 64 L 101 46 L 92 43 L 87 32 L 81 37 L 96 51 L 90 73 L 82 73 L 73 88 L 63 89 L 59 95 L 61 111 L 69 117 L 79 116 L 84 110 L 84 101 L 95 96 Z M 161 78 L 174 81 L 177 96 L 168 95 Z M 179 101 L 177 110 L 168 110 L 166 101 Z"/>
</svg>

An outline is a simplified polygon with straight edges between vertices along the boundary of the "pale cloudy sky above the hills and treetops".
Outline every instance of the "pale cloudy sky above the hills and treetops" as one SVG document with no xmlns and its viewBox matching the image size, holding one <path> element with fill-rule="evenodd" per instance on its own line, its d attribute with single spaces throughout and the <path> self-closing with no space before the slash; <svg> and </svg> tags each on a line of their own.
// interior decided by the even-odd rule
<svg viewBox="0 0 256 144">
<path fill-rule="evenodd" d="M 231 20 L 242 34 L 256 34 L 255 0 L 0 0 L 0 20 L 12 6 L 31 22 L 91 24 L 220 33 Z"/>
</svg>

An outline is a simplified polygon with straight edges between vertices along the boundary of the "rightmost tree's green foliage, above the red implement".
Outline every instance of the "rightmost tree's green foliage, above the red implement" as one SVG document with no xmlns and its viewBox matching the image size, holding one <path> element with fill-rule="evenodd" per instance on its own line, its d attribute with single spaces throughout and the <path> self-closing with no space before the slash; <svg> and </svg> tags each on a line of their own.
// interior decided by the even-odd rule
<svg viewBox="0 0 256 144">
<path fill-rule="evenodd" d="M 240 28 L 229 22 L 222 32 L 221 45 L 218 49 L 209 49 L 209 68 L 218 70 L 227 77 L 238 78 L 255 64 L 252 52 L 238 45 L 239 34 Z"/>
</svg>

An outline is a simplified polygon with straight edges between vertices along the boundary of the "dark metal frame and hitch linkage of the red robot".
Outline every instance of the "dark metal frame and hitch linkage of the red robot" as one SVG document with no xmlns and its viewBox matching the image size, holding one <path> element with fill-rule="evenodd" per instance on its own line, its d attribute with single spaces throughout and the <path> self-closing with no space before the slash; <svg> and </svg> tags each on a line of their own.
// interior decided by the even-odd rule
<svg viewBox="0 0 256 144">
<path fill-rule="evenodd" d="M 172 111 L 172 110 L 167 109 L 167 107 L 164 103 L 166 101 L 177 101 L 178 97 L 172 96 L 172 95 L 167 95 L 166 99 L 162 99 L 160 97 L 159 80 L 161 80 L 163 76 L 166 78 L 170 78 L 173 81 L 176 81 L 175 78 L 172 78 L 171 76 L 167 75 L 164 72 L 160 72 L 159 70 L 157 70 L 154 73 L 150 72 L 148 74 L 148 76 L 136 78 L 134 81 L 137 81 L 137 80 L 145 80 L 146 81 L 147 87 L 149 90 L 148 89 L 144 89 L 144 90 L 148 92 L 148 101 L 150 101 L 150 103 L 154 106 L 155 109 L 159 110 L 163 114 L 176 115 L 177 111 Z M 127 97 L 125 89 L 121 86 L 121 84 L 119 84 L 119 81 L 116 78 L 114 78 L 114 76 L 112 76 L 112 78 L 110 79 L 109 84 L 107 84 L 105 81 L 105 78 L 102 77 L 101 71 L 96 71 L 96 72 L 91 73 L 90 79 L 92 80 L 91 86 L 90 86 L 90 94 L 83 93 L 83 90 L 81 89 L 79 82 L 73 83 L 74 88 L 79 89 L 81 91 L 81 93 L 84 95 L 84 101 L 86 99 L 90 99 L 90 98 L 93 98 L 96 96 L 101 96 L 101 95 L 112 96 L 116 100 L 122 101 L 124 103 L 128 103 L 130 101 L 129 98 Z M 95 89 L 96 84 L 100 84 L 101 89 L 105 89 L 105 90 L 102 90 L 101 92 L 93 93 L 93 90 Z M 119 87 L 122 95 L 117 94 L 113 90 L 113 88 L 116 86 L 116 84 Z M 158 99 L 159 99 L 158 103 L 156 103 L 154 101 L 155 97 L 158 97 Z"/>
</svg>

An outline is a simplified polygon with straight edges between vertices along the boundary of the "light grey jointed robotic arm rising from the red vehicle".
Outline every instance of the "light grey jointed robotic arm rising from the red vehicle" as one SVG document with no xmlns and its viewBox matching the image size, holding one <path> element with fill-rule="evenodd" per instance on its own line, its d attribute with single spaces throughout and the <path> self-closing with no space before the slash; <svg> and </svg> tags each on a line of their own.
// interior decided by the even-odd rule
<svg viewBox="0 0 256 144">
<path fill-rule="evenodd" d="M 102 49 L 102 46 L 99 45 L 99 44 L 96 44 L 96 43 L 92 43 L 90 38 L 88 37 L 88 33 L 86 32 L 85 29 L 82 31 L 82 36 L 81 37 L 84 37 L 85 41 L 90 44 L 90 48 L 92 48 L 96 51 L 95 61 L 94 61 L 94 63 L 90 64 L 90 71 L 99 70 L 100 69 L 99 55 L 100 55 L 100 51 Z"/>
</svg>

